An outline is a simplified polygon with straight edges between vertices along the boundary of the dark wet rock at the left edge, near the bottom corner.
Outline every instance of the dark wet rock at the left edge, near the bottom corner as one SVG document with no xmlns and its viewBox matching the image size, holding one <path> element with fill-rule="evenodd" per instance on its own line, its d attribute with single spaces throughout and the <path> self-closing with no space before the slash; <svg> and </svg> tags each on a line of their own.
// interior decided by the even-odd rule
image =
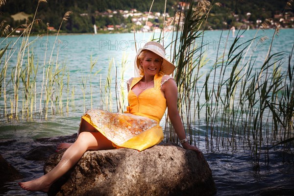
<svg viewBox="0 0 294 196">
<path fill-rule="evenodd" d="M 14 181 L 23 176 L 13 166 L 11 166 L 0 154 L 0 185 L 4 182 Z"/>
</svg>

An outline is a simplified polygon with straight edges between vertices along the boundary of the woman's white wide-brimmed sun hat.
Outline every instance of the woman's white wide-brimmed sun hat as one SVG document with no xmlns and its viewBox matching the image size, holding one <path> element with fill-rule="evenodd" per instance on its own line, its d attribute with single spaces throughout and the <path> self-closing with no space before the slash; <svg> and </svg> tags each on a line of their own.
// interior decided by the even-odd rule
<svg viewBox="0 0 294 196">
<path fill-rule="evenodd" d="M 143 50 L 152 51 L 163 58 L 160 71 L 162 71 L 166 75 L 170 75 L 173 73 L 175 66 L 165 57 L 166 52 L 164 47 L 157 42 L 147 42 L 143 48 L 138 50 L 137 55 L 135 57 L 135 75 L 137 74 L 136 76 L 139 76 L 139 66 L 141 61 L 138 58 L 138 56 Z"/>
</svg>

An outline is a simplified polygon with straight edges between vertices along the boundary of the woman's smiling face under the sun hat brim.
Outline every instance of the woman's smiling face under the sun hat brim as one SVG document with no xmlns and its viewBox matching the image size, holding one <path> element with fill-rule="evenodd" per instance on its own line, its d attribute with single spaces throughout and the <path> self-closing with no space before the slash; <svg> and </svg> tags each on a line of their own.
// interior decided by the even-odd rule
<svg viewBox="0 0 294 196">
<path fill-rule="evenodd" d="M 162 58 L 154 52 L 147 51 L 141 65 L 143 66 L 144 75 L 155 75 L 160 71 Z"/>
</svg>

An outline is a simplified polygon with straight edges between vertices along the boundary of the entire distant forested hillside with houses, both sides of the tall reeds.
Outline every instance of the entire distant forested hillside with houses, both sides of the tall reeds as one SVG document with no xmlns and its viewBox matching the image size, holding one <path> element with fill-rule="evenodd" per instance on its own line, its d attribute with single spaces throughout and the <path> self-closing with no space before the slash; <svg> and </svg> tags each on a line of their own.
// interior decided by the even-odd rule
<svg viewBox="0 0 294 196">
<path fill-rule="evenodd" d="M 178 2 L 168 0 L 166 12 L 173 16 L 178 11 Z M 215 3 L 216 1 L 213 1 Z M 231 25 L 240 27 L 245 26 L 255 28 L 258 21 L 264 21 L 271 18 L 272 22 L 278 22 L 280 18 L 286 21 L 282 27 L 293 27 L 293 6 L 292 10 L 287 9 L 285 16 L 282 15 L 287 4 L 287 0 L 218 0 L 221 6 L 213 6 L 205 28 L 220 29 L 229 28 Z M 62 32 L 87 33 L 93 32 L 93 25 L 97 25 L 101 31 L 109 25 L 117 26 L 115 30 L 129 32 L 134 24 L 133 16 L 125 17 L 122 11 L 137 10 L 137 13 L 148 12 L 152 0 L 47 0 L 40 2 L 36 18 L 41 19 L 42 23 L 34 25 L 33 32 L 47 32 L 47 23 L 55 29 L 59 28 L 64 14 L 72 11 L 70 19 L 61 27 Z M 25 20 L 13 20 L 11 15 L 24 12 L 34 15 L 38 0 L 6 0 L 6 3 L 0 7 L 0 21 L 5 20 L 13 28 L 25 24 Z M 152 6 L 152 12 L 164 13 L 165 0 L 155 0 Z M 113 12 L 121 10 L 121 12 Z M 249 14 L 248 14 L 249 13 Z M 288 17 L 288 19 L 287 19 Z M 29 21 L 32 17 L 28 18 Z M 150 21 L 154 24 L 162 24 L 163 17 L 152 18 Z M 272 24 L 273 25 L 273 24 Z M 136 26 L 137 29 L 142 25 Z"/>
</svg>

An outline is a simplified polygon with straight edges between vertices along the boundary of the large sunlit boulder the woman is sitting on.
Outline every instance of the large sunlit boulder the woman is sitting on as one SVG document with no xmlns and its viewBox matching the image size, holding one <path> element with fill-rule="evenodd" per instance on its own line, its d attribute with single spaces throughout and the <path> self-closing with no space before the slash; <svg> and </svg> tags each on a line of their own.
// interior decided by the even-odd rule
<svg viewBox="0 0 294 196">
<path fill-rule="evenodd" d="M 45 163 L 47 173 L 64 150 Z M 209 196 L 216 187 L 208 163 L 177 145 L 87 151 L 75 167 L 56 181 L 57 196 Z"/>
</svg>

